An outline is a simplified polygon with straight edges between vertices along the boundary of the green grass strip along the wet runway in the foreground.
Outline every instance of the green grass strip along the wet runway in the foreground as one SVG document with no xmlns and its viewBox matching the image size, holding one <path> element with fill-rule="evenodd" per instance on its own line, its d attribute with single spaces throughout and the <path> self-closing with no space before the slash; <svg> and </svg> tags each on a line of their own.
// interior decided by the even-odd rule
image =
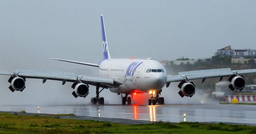
<svg viewBox="0 0 256 134">
<path fill-rule="evenodd" d="M 155 122 L 152 124 L 124 125 L 94 120 L 62 119 L 58 117 L 52 118 L 38 115 L 27 116 L 0 113 L 0 133 L 255 134 L 256 127 L 245 125 L 228 125 L 223 123 L 200 124 L 198 122 L 180 122 L 177 124 Z"/>
</svg>

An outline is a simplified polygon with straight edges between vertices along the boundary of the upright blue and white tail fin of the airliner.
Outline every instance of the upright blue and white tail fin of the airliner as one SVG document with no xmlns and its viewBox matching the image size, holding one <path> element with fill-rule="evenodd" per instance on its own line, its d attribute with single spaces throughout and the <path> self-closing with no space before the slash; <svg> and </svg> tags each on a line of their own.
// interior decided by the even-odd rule
<svg viewBox="0 0 256 134">
<path fill-rule="evenodd" d="M 100 21 L 101 21 L 101 32 L 102 32 L 102 41 L 103 41 L 103 59 L 111 59 L 109 50 L 108 50 L 108 41 L 106 36 L 103 15 L 100 15 Z"/>
</svg>

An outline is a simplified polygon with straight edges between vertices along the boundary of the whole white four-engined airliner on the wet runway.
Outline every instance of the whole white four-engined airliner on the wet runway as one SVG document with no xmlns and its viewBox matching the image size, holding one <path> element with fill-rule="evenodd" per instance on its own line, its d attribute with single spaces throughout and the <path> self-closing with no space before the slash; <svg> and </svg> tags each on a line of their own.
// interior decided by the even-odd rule
<svg viewBox="0 0 256 134">
<path fill-rule="evenodd" d="M 179 72 L 178 75 L 167 75 L 166 69 L 158 61 L 152 58 L 147 59 L 111 59 L 108 49 L 108 41 L 106 37 L 106 30 L 103 16 L 100 16 L 102 28 L 103 41 L 103 59 L 98 64 L 84 63 L 78 61 L 69 61 L 63 59 L 55 59 L 59 61 L 66 61 L 71 63 L 78 63 L 82 65 L 89 65 L 98 67 L 100 77 L 74 75 L 65 72 L 54 71 L 33 71 L 33 70 L 16 70 L 16 71 L 0 71 L 0 75 L 11 75 L 8 80 L 11 83 L 9 89 L 22 92 L 25 89 L 25 82 L 27 78 L 62 81 L 62 85 L 68 82 L 73 82 L 72 88 L 74 91 L 72 95 L 77 97 L 86 97 L 89 94 L 89 85 L 96 86 L 96 97 L 91 99 L 93 104 L 104 104 L 104 98 L 99 97 L 103 89 L 109 89 L 118 95 L 124 94 L 122 97 L 122 104 L 131 104 L 131 98 L 136 93 L 148 93 L 150 98 L 148 104 L 155 105 L 164 104 L 164 98 L 159 97 L 164 85 L 169 87 L 171 82 L 180 82 L 178 87 L 180 91 L 178 94 L 181 97 L 192 97 L 195 94 L 195 85 L 191 80 L 202 79 L 202 83 L 206 78 L 229 76 L 230 85 L 228 86 L 232 91 L 242 90 L 245 87 L 245 79 L 241 74 L 256 73 L 256 69 L 235 70 L 226 69 L 210 69 Z M 241 75 L 241 76 L 240 76 Z M 190 82 L 191 81 L 191 82 Z M 102 88 L 100 90 L 100 88 Z M 131 97 L 128 97 L 128 96 Z"/>
</svg>

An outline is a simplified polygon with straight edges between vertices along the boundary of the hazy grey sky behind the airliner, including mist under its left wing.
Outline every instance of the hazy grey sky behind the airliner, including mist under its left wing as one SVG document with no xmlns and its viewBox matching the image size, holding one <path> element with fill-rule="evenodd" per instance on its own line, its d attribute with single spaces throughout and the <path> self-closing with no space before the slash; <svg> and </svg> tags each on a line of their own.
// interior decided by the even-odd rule
<svg viewBox="0 0 256 134">
<path fill-rule="evenodd" d="M 0 70 L 98 75 L 95 67 L 50 57 L 98 63 L 100 14 L 104 14 L 112 58 L 198 59 L 211 57 L 227 45 L 256 49 L 255 7 L 256 0 L 0 0 Z M 9 96 L 22 100 L 26 93 L 35 100 L 41 95 L 44 101 L 59 97 L 63 102 L 66 94 L 73 100 L 71 83 L 63 87 L 61 82 L 46 82 L 41 87 L 41 80 L 31 80 L 27 92 L 12 94 L 7 79 L 0 77 L 1 88 L 6 87 L 0 97 L 4 100 Z M 94 91 L 90 93 L 94 96 Z"/>
</svg>

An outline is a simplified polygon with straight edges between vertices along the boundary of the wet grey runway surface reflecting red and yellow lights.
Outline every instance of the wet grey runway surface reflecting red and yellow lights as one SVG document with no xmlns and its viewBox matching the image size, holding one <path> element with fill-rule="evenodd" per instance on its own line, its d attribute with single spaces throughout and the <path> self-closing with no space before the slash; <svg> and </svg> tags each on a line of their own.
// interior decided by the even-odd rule
<svg viewBox="0 0 256 134">
<path fill-rule="evenodd" d="M 0 106 L 1 111 L 38 113 L 38 106 Z M 100 110 L 100 114 L 98 113 Z M 232 122 L 256 126 L 256 105 L 76 105 L 40 106 L 40 113 L 146 121 Z M 111 119 L 110 119 L 111 120 Z"/>
</svg>

